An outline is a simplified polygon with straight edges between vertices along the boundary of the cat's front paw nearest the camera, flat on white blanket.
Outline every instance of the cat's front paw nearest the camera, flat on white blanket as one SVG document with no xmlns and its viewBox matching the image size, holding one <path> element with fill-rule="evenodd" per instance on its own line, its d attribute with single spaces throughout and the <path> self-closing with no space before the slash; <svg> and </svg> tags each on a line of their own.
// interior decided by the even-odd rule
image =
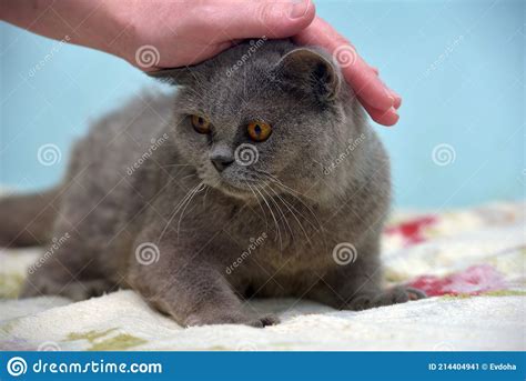
<svg viewBox="0 0 526 381">
<path fill-rule="evenodd" d="M 280 319 L 274 314 L 263 317 L 251 317 L 242 312 L 214 311 L 205 313 L 194 313 L 186 318 L 184 327 L 199 327 L 211 324 L 244 324 L 254 328 L 275 325 Z"/>
</svg>

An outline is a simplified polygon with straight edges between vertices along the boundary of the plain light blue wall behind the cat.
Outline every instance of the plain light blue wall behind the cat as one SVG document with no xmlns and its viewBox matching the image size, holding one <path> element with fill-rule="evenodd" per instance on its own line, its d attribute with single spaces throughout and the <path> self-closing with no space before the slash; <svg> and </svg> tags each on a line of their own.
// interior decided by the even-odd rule
<svg viewBox="0 0 526 381">
<path fill-rule="evenodd" d="M 392 157 L 398 207 L 451 208 L 523 199 L 525 4 L 500 1 L 317 1 L 404 98 L 395 128 L 375 126 Z M 139 70 L 85 48 L 0 24 L 0 186 L 33 190 L 64 172 L 90 120 L 146 86 Z M 51 59 L 33 71 L 45 54 Z M 44 167 L 39 147 L 62 159 Z M 455 160 L 437 166 L 437 144 Z"/>
</svg>

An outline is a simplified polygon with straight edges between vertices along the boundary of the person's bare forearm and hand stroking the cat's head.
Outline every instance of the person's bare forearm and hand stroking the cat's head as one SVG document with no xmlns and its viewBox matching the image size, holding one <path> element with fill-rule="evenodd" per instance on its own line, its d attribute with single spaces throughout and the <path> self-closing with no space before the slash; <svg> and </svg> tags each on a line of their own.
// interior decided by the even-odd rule
<svg viewBox="0 0 526 381">
<path fill-rule="evenodd" d="M 347 83 L 371 118 L 380 124 L 398 121 L 402 99 L 380 79 L 378 71 L 353 44 L 315 14 L 311 0 L 3 0 L 0 19 L 52 39 L 120 57 L 142 70 L 190 66 L 204 61 L 247 38 L 289 38 L 328 52 L 352 51 L 342 63 Z M 160 52 L 153 67 L 140 67 L 143 46 Z"/>
</svg>

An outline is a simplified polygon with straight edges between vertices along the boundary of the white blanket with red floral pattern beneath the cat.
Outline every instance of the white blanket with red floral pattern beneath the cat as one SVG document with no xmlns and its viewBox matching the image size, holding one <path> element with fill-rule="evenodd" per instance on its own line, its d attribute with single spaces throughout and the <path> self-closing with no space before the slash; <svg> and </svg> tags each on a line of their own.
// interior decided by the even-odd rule
<svg viewBox="0 0 526 381">
<path fill-rule="evenodd" d="M 39 249 L 3 250 L 0 348 L 524 350 L 516 332 L 525 329 L 525 205 L 395 214 L 383 239 L 387 280 L 419 288 L 431 298 L 361 312 L 308 301 L 257 301 L 251 308 L 277 313 L 282 320 L 264 330 L 182 329 L 132 291 L 78 303 L 50 297 L 16 300 Z"/>
</svg>

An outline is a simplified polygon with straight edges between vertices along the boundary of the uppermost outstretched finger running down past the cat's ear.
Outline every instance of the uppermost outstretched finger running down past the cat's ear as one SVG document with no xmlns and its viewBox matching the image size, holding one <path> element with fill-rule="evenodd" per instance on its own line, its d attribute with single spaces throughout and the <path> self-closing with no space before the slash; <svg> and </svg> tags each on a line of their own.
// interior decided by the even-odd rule
<svg viewBox="0 0 526 381">
<path fill-rule="evenodd" d="M 316 44 L 331 52 L 342 67 L 345 80 L 367 104 L 378 110 L 388 110 L 395 99 L 372 69 L 357 53 L 351 42 L 340 36 L 320 18 L 301 31 L 295 41 L 301 44 Z"/>
</svg>

